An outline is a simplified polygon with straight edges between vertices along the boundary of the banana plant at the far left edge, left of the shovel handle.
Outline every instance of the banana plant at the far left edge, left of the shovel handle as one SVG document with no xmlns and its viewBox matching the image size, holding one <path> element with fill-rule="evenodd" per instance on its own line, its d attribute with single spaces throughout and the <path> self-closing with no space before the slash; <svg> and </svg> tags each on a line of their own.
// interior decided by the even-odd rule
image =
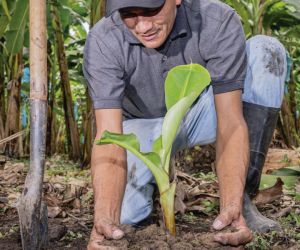
<svg viewBox="0 0 300 250">
<path fill-rule="evenodd" d="M 0 115 L 5 123 L 4 137 L 8 137 L 20 130 L 20 78 L 23 47 L 26 46 L 26 42 L 28 43 L 29 1 L 2 0 L 0 5 L 0 54 L 3 58 L 0 68 L 0 85 L 2 85 L 0 89 L 4 89 L 0 93 L 0 101 L 2 105 L 5 105 L 5 108 L 0 109 Z M 5 145 L 5 152 L 11 156 L 21 156 L 23 154 L 22 139 L 19 138 L 18 141 L 15 140 Z"/>
</svg>

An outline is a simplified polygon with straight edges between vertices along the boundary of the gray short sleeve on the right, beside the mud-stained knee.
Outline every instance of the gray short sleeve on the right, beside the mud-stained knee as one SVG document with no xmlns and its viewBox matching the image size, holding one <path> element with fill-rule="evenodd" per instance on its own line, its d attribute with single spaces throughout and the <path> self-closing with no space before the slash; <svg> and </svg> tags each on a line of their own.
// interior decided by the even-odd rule
<svg viewBox="0 0 300 250">
<path fill-rule="evenodd" d="M 226 13 L 210 44 L 205 60 L 214 94 L 243 89 L 247 70 L 246 41 L 235 11 Z"/>
</svg>

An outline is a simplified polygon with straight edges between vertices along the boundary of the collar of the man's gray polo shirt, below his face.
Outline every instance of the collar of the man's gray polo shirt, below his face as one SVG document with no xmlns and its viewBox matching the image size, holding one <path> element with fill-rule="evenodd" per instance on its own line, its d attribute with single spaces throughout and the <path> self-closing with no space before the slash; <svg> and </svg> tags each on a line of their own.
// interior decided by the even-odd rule
<svg viewBox="0 0 300 250">
<path fill-rule="evenodd" d="M 122 22 L 120 14 L 118 13 L 117 15 L 118 16 L 116 18 Z M 126 41 L 128 41 L 130 44 L 141 44 L 141 42 L 132 34 L 132 32 L 126 27 L 126 25 L 123 22 L 121 27 Z M 174 40 L 187 33 L 188 33 L 187 17 L 186 17 L 184 6 L 180 5 L 177 8 L 177 14 L 176 14 L 174 26 L 169 35 L 169 38 L 171 40 Z"/>
</svg>

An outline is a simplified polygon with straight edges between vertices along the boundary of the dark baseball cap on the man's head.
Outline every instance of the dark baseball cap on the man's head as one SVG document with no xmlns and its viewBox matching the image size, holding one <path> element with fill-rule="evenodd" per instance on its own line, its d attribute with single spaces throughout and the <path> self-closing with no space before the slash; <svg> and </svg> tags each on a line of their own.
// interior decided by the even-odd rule
<svg viewBox="0 0 300 250">
<path fill-rule="evenodd" d="M 165 3 L 165 0 L 107 0 L 106 16 L 111 15 L 116 10 L 129 7 L 158 8 Z"/>
</svg>

